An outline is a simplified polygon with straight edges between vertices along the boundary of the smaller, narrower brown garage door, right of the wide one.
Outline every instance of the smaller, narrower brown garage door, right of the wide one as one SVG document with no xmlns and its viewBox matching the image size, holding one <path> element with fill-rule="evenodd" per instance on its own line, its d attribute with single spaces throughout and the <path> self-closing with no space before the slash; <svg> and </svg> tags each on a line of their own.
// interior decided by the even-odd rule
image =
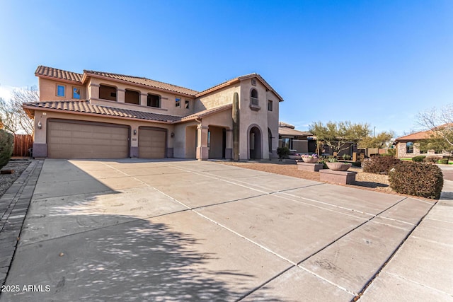
<svg viewBox="0 0 453 302">
<path fill-rule="evenodd" d="M 165 158 L 166 129 L 139 127 L 139 158 Z"/>
</svg>

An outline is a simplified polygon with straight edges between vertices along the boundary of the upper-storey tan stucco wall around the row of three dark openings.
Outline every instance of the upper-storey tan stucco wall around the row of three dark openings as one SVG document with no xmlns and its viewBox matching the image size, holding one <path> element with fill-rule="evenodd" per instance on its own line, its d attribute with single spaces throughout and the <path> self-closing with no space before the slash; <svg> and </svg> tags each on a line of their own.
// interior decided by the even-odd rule
<svg viewBox="0 0 453 302">
<path fill-rule="evenodd" d="M 162 92 L 162 91 L 155 91 L 149 88 L 141 87 L 141 86 L 133 86 L 130 84 L 125 84 L 125 83 L 119 83 L 115 81 L 108 81 L 104 79 L 96 79 L 96 78 L 91 78 L 90 80 L 91 83 L 91 91 L 89 92 L 90 98 L 92 100 L 93 104 L 97 105 L 107 105 L 107 106 L 112 106 L 112 107 L 117 107 L 117 108 L 126 108 L 130 110 L 139 110 L 139 111 L 146 111 L 146 112 L 156 112 L 164 115 L 177 115 L 177 116 L 185 116 L 185 115 L 190 115 L 194 112 L 194 100 L 193 98 L 185 97 L 183 95 L 178 95 L 177 93 L 167 93 L 167 92 Z M 117 88 L 117 101 L 114 100 L 101 100 L 99 98 L 99 90 L 98 90 L 98 85 L 108 85 L 108 86 L 115 86 Z M 133 90 L 133 91 L 139 91 L 141 94 L 141 100 L 143 105 L 134 105 L 134 104 L 128 104 L 125 103 L 125 90 Z M 146 104 L 146 98 L 147 94 L 155 94 L 155 95 L 160 95 L 161 96 L 161 108 L 152 108 L 152 107 L 147 107 Z M 142 99 L 143 98 L 143 99 Z M 181 105 L 180 107 L 176 107 L 176 98 L 180 98 L 181 100 Z M 185 100 L 190 101 L 190 107 L 189 109 L 185 109 Z"/>
</svg>

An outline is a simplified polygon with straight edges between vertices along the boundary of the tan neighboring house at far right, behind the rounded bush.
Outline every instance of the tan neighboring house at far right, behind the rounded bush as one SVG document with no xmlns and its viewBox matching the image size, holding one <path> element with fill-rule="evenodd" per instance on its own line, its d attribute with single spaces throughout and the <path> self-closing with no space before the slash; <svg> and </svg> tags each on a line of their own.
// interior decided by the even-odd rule
<svg viewBox="0 0 453 302">
<path fill-rule="evenodd" d="M 428 150 L 423 152 L 418 149 L 418 142 L 423 139 L 429 139 L 432 137 L 432 130 L 415 132 L 413 134 L 406 135 L 404 137 L 398 137 L 395 139 L 394 145 L 396 145 L 396 157 L 398 158 L 412 158 L 419 155 L 437 155 L 437 156 L 448 156 L 449 153 L 436 153 L 434 150 Z"/>
</svg>

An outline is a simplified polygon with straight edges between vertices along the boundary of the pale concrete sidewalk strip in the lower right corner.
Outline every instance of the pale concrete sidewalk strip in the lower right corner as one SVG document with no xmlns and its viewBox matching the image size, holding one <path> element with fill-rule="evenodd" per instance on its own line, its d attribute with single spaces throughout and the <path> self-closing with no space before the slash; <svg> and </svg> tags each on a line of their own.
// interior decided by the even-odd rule
<svg viewBox="0 0 453 302">
<path fill-rule="evenodd" d="M 453 301 L 453 181 L 360 301 Z"/>
</svg>

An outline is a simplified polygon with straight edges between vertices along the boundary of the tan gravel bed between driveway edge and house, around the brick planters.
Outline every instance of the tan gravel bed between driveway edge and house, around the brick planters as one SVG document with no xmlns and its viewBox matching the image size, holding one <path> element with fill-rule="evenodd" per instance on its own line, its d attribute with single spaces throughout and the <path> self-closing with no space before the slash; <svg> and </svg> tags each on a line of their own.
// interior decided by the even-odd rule
<svg viewBox="0 0 453 302">
<path fill-rule="evenodd" d="M 280 161 L 269 161 L 265 162 L 228 162 L 222 161 L 219 162 L 224 165 L 237 165 L 241 168 L 248 168 L 253 170 L 260 170 L 269 173 L 281 174 L 292 176 L 294 178 L 304 178 L 306 180 L 319 180 L 319 172 L 309 172 L 304 170 L 298 170 L 297 165 L 291 163 L 285 163 Z M 350 171 L 357 172 L 355 177 L 354 187 L 363 187 L 367 190 L 374 190 L 385 193 L 394 193 L 394 190 L 389 187 L 389 176 L 379 175 L 374 173 L 365 173 L 362 172 L 362 168 L 352 167 Z"/>
</svg>

